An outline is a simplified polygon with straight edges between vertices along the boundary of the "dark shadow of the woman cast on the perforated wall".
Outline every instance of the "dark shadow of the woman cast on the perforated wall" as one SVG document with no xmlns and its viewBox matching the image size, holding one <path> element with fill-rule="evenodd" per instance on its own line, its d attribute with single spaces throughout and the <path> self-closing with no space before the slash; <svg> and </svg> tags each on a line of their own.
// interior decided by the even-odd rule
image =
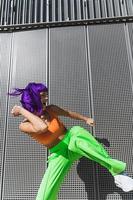
<svg viewBox="0 0 133 200">
<path fill-rule="evenodd" d="M 107 139 L 100 139 L 96 138 L 99 142 L 103 143 L 105 146 L 110 146 Z M 77 173 L 81 180 L 85 183 L 85 191 L 87 193 L 88 200 L 90 199 L 90 185 L 94 185 L 93 180 L 90 178 L 90 175 L 93 174 L 93 161 L 82 157 L 79 160 L 79 163 L 77 165 Z M 133 200 L 133 192 L 125 193 L 120 188 L 115 186 L 114 178 L 110 174 L 110 172 L 103 168 L 98 163 L 94 163 L 94 165 L 97 165 L 97 179 L 98 179 L 98 187 L 99 187 L 99 199 L 98 200 L 109 200 L 109 199 L 119 199 L 119 200 Z M 96 166 L 95 166 L 96 167 Z M 87 173 L 87 171 L 88 173 Z M 89 182 L 89 184 L 88 184 Z M 92 182 L 92 184 L 91 184 Z"/>
</svg>

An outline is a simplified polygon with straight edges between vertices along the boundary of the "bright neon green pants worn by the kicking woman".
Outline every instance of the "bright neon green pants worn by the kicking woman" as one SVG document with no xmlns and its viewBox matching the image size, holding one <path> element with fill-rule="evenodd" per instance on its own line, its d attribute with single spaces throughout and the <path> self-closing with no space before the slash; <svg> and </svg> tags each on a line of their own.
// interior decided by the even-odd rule
<svg viewBox="0 0 133 200">
<path fill-rule="evenodd" d="M 40 184 L 36 200 L 56 200 L 65 175 L 73 162 L 82 156 L 101 164 L 113 176 L 126 168 L 126 163 L 112 159 L 91 133 L 80 126 L 68 129 L 63 140 L 51 148 L 50 153 L 48 168 Z"/>
</svg>

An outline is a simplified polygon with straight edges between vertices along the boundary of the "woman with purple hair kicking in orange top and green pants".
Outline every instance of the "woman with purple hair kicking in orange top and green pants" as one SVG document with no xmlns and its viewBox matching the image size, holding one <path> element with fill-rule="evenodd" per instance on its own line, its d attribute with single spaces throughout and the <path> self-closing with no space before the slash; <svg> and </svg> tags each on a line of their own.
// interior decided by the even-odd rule
<svg viewBox="0 0 133 200">
<path fill-rule="evenodd" d="M 48 88 L 42 83 L 29 83 L 25 89 L 15 88 L 15 91 L 9 94 L 21 95 L 22 107 L 15 105 L 11 111 L 14 117 L 25 117 L 19 125 L 20 131 L 46 146 L 51 153 L 36 200 L 56 200 L 65 175 L 73 162 L 82 156 L 107 168 L 117 187 L 125 192 L 133 190 L 133 179 L 124 174 L 126 163 L 112 159 L 91 133 L 81 126 L 67 129 L 58 116 L 83 120 L 94 126 L 92 118 L 56 105 L 46 106 Z"/>
</svg>

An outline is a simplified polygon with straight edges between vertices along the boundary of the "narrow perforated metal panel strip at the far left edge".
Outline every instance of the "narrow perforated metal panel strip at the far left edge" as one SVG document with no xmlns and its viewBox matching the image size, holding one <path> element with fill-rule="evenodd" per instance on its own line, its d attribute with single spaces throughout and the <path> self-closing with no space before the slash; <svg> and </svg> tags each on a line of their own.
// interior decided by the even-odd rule
<svg viewBox="0 0 133 200">
<path fill-rule="evenodd" d="M 10 49 L 12 35 L 0 35 L 0 183 L 4 171 L 8 97 L 6 92 L 10 74 Z M 2 185 L 2 184 L 0 184 Z"/>
</svg>

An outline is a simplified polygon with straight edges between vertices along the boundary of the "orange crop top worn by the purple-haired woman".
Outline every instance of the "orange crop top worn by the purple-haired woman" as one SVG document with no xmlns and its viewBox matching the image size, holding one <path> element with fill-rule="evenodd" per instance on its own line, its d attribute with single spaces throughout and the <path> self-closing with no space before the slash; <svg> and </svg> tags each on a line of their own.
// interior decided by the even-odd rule
<svg viewBox="0 0 133 200">
<path fill-rule="evenodd" d="M 52 117 L 51 122 L 48 126 L 48 131 L 41 134 L 32 133 L 30 134 L 30 136 L 36 141 L 38 141 L 39 143 L 49 146 L 61 134 L 64 134 L 64 132 L 66 131 L 66 128 L 54 112 L 52 112 L 50 109 L 49 110 L 47 109 L 47 112 Z"/>
</svg>

